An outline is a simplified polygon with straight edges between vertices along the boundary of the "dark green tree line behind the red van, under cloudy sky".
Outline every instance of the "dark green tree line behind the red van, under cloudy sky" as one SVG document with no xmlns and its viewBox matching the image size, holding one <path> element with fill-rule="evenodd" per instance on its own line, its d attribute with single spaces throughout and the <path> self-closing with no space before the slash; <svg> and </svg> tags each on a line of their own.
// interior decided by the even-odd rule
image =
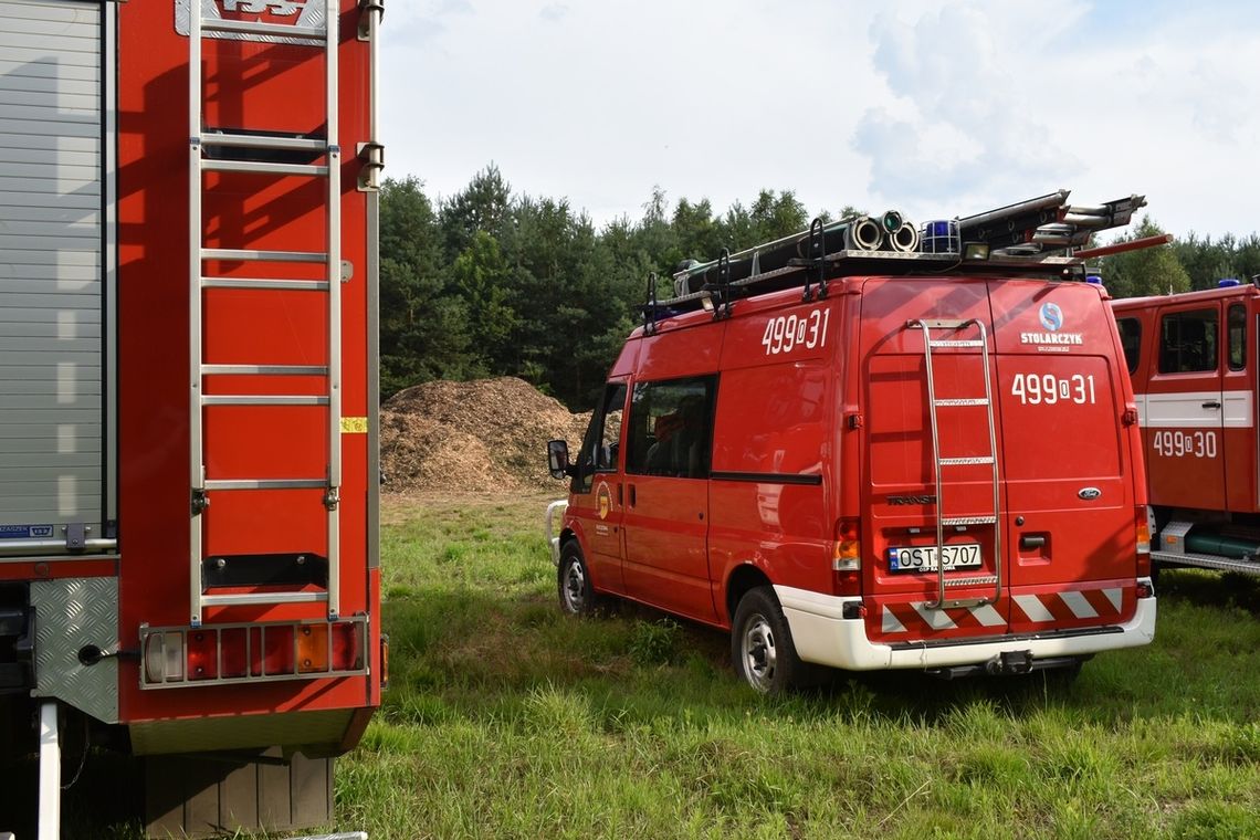
<svg viewBox="0 0 1260 840">
<path fill-rule="evenodd" d="M 838 218 L 857 213 L 839 209 Z M 805 230 L 790 190 L 724 212 L 656 189 L 638 219 L 597 229 L 566 199 L 514 194 L 499 170 L 435 200 L 416 178 L 381 189 L 382 395 L 430 379 L 514 375 L 570 408 L 590 408 L 625 336 L 641 322 L 650 272 L 668 283 L 688 258 Z M 1149 218 L 1118 239 L 1162 233 Z M 1095 243 L 1102 244 L 1102 243 Z M 1115 297 L 1260 275 L 1260 238 L 1193 233 L 1171 247 L 1104 257 Z"/>
</svg>

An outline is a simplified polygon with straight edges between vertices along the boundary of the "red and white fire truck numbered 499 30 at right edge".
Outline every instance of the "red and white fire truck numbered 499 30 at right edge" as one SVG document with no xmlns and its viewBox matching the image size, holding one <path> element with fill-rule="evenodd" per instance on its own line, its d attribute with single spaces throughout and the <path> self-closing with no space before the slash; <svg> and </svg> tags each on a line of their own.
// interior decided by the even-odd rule
<svg viewBox="0 0 1260 840">
<path fill-rule="evenodd" d="M 1137 392 L 1158 565 L 1260 574 L 1260 288 L 1111 304 Z"/>
</svg>

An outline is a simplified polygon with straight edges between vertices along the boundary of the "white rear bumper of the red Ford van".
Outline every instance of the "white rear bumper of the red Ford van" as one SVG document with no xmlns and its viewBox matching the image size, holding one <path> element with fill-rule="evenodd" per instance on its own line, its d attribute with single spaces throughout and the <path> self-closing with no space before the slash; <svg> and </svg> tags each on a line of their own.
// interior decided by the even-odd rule
<svg viewBox="0 0 1260 840">
<path fill-rule="evenodd" d="M 861 597 L 837 597 L 775 587 L 791 630 L 796 654 L 806 662 L 849 671 L 885 669 L 935 669 L 978 665 L 1002 654 L 1028 651 L 1032 659 L 1087 656 L 1106 650 L 1139 647 L 1155 637 L 1155 598 L 1140 598 L 1133 618 L 1113 630 L 1024 635 L 995 641 L 963 641 L 958 645 L 886 645 L 867 639 L 866 620 L 844 618 L 844 604 Z"/>
</svg>

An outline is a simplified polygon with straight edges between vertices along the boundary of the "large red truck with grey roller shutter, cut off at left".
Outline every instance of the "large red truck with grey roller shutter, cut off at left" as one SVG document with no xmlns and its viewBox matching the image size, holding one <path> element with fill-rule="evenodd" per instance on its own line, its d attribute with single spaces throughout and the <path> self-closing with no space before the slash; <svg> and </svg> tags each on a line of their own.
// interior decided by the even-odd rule
<svg viewBox="0 0 1260 840">
<path fill-rule="evenodd" d="M 379 704 L 381 14 L 0 0 L 0 761 L 38 738 L 42 837 L 59 732 L 146 757 L 161 836 L 290 827 Z"/>
</svg>

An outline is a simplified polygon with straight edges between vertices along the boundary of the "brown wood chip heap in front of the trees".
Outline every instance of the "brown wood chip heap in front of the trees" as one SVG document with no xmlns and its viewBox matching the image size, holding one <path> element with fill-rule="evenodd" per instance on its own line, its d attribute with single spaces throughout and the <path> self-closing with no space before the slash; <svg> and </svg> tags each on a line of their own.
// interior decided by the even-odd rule
<svg viewBox="0 0 1260 840">
<path fill-rule="evenodd" d="M 577 455 L 590 413 L 514 377 L 427 382 L 381 408 L 381 463 L 387 492 L 561 490 L 547 472 L 547 441 Z"/>
</svg>

